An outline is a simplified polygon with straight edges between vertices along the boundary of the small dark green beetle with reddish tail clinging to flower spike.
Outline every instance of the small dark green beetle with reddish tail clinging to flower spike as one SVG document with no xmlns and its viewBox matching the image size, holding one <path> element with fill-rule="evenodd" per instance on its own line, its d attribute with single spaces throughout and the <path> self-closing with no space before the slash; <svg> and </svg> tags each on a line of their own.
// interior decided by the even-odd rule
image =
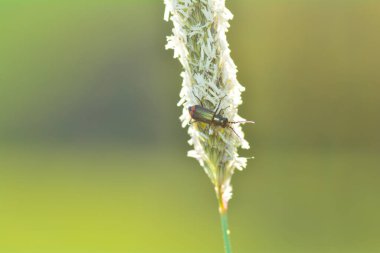
<svg viewBox="0 0 380 253">
<path fill-rule="evenodd" d="M 194 96 L 195 96 L 195 94 L 194 94 Z M 225 98 L 225 96 L 220 99 L 218 106 L 215 108 L 215 111 L 212 111 L 210 109 L 205 108 L 203 106 L 202 101 L 197 96 L 195 96 L 195 97 L 198 99 L 200 105 L 189 106 L 188 110 L 190 113 L 190 117 L 194 120 L 190 124 L 192 124 L 194 122 L 203 122 L 203 123 L 209 124 L 210 126 L 220 126 L 222 128 L 230 128 L 236 134 L 236 136 L 238 136 L 240 138 L 240 136 L 235 132 L 235 130 L 231 126 L 231 124 L 239 124 L 239 123 L 243 123 L 243 124 L 244 123 L 252 123 L 252 124 L 254 124 L 255 123 L 254 121 L 248 121 L 248 120 L 245 120 L 245 121 L 229 121 L 228 118 L 221 115 L 221 111 L 224 109 L 220 109 L 219 107 L 220 107 L 220 104 L 222 102 L 222 99 Z"/>
</svg>

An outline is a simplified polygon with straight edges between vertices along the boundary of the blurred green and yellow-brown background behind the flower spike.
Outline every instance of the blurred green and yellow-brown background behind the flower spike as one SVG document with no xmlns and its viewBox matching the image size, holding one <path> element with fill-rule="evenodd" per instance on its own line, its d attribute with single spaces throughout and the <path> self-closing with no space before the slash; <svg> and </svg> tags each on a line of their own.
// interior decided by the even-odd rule
<svg viewBox="0 0 380 253">
<path fill-rule="evenodd" d="M 228 0 L 236 253 L 380 252 L 380 2 Z M 223 252 L 157 0 L 0 0 L 0 252 Z"/>
</svg>

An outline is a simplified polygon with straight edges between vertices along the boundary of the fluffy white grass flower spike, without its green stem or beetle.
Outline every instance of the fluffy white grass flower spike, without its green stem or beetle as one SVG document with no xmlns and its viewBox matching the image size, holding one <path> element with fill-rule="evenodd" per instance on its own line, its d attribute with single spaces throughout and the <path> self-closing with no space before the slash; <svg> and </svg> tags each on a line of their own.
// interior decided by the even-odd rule
<svg viewBox="0 0 380 253">
<path fill-rule="evenodd" d="M 168 36 L 167 49 L 184 71 L 179 106 L 182 126 L 191 122 L 188 107 L 199 105 L 214 111 L 220 102 L 221 114 L 229 121 L 243 121 L 238 115 L 244 87 L 237 81 L 237 68 L 230 57 L 226 40 L 228 21 L 233 15 L 225 0 L 165 0 L 165 20 L 173 22 L 173 35 Z M 196 158 L 215 186 L 220 212 L 227 211 L 232 196 L 230 184 L 235 169 L 242 170 L 247 159 L 239 157 L 239 147 L 248 149 L 240 125 L 230 128 L 196 122 L 189 125 L 189 144 L 194 147 L 188 156 Z"/>
</svg>

